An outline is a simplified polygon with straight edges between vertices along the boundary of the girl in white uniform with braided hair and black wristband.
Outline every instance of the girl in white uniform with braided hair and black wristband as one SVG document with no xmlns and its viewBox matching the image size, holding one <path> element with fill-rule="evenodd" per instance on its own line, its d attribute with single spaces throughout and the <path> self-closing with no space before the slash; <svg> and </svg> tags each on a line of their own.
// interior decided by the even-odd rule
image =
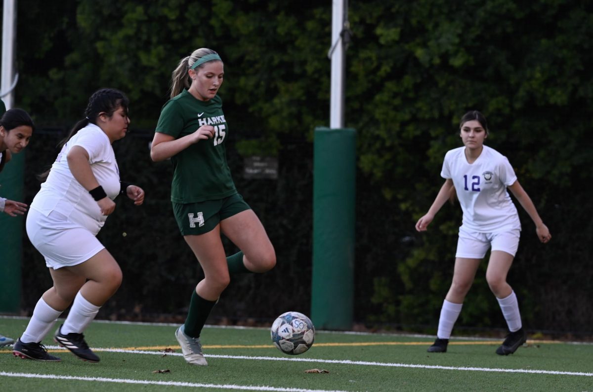
<svg viewBox="0 0 593 392">
<path fill-rule="evenodd" d="M 47 354 L 41 341 L 72 304 L 54 340 L 84 361 L 99 361 L 82 332 L 119 288 L 122 271 L 96 235 L 113 212 L 118 194 L 126 194 L 136 205 L 144 202 L 141 188 L 120 183 L 111 147 L 126 136 L 127 106 L 126 96 L 115 89 L 100 89 L 91 96 L 86 118 L 62 143 L 31 203 L 27 235 L 44 256 L 53 287 L 37 302 L 27 329 L 14 344 L 15 356 L 59 361 Z"/>
</svg>

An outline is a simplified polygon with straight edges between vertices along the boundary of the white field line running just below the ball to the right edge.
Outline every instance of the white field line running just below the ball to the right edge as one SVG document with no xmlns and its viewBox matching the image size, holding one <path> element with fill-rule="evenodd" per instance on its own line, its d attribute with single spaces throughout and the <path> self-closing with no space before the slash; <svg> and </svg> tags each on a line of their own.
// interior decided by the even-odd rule
<svg viewBox="0 0 593 392">
<path fill-rule="evenodd" d="M 59 346 L 46 346 L 48 349 L 62 349 Z M 180 352 L 146 351 L 146 350 L 126 350 L 117 348 L 93 348 L 93 351 L 120 352 L 127 354 L 149 354 L 149 355 L 171 355 L 183 356 Z M 361 366 L 379 366 L 391 368 L 415 368 L 415 369 L 439 369 L 439 370 L 458 370 L 458 371 L 478 371 L 478 372 L 501 372 L 501 373 L 525 373 L 525 374 L 554 374 L 554 375 L 581 375 L 593 377 L 589 372 L 568 372 L 556 370 L 537 370 L 537 369 L 503 369 L 503 368 L 477 368 L 466 366 L 441 366 L 441 365 L 414 365 L 398 364 L 391 362 L 369 362 L 369 361 L 349 361 L 347 359 L 315 359 L 315 358 L 288 358 L 283 356 L 247 356 L 247 355 L 218 355 L 204 354 L 208 358 L 224 359 L 248 359 L 250 361 L 289 361 L 289 362 L 315 362 L 318 364 L 339 364 L 339 365 L 361 365 Z"/>
</svg>

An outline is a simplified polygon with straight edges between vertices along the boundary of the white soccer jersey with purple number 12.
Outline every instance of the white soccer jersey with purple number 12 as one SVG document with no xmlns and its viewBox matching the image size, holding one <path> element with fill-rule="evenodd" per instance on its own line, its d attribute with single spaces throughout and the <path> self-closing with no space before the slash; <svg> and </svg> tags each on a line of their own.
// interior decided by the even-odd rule
<svg viewBox="0 0 593 392">
<path fill-rule="evenodd" d="M 511 163 L 495 149 L 483 146 L 474 163 L 468 163 L 466 147 L 445 154 L 441 176 L 451 178 L 463 210 L 465 229 L 495 233 L 521 229 L 517 208 L 506 187 L 517 181 Z"/>
</svg>

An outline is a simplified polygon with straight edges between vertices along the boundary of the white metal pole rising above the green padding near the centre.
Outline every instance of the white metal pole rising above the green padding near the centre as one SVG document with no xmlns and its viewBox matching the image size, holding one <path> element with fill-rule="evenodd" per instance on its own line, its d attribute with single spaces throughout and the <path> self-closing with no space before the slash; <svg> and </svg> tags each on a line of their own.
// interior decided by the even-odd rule
<svg viewBox="0 0 593 392">
<path fill-rule="evenodd" d="M 344 77 L 345 77 L 345 30 L 346 0 L 333 0 L 331 13 L 331 98 L 330 128 L 344 127 Z"/>
</svg>

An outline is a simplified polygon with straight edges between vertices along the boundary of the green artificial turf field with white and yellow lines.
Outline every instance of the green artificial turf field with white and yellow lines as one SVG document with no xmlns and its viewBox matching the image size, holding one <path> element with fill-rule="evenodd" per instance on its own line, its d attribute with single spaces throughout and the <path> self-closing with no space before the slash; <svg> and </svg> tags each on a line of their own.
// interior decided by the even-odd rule
<svg viewBox="0 0 593 392">
<path fill-rule="evenodd" d="M 27 322 L 0 318 L 0 333 L 16 339 Z M 0 348 L 0 385 L 89 392 L 593 391 L 593 345 L 586 343 L 528 340 L 514 355 L 499 356 L 497 340 L 451 339 L 447 353 L 430 354 L 429 337 L 317 331 L 309 351 L 289 356 L 272 345 L 267 329 L 206 327 L 202 343 L 209 365 L 197 367 L 181 356 L 175 329 L 94 322 L 85 338 L 100 356 L 98 364 L 57 348 L 52 330 L 43 343 L 62 361 L 24 360 Z M 310 369 L 329 372 L 305 372 Z"/>
</svg>

